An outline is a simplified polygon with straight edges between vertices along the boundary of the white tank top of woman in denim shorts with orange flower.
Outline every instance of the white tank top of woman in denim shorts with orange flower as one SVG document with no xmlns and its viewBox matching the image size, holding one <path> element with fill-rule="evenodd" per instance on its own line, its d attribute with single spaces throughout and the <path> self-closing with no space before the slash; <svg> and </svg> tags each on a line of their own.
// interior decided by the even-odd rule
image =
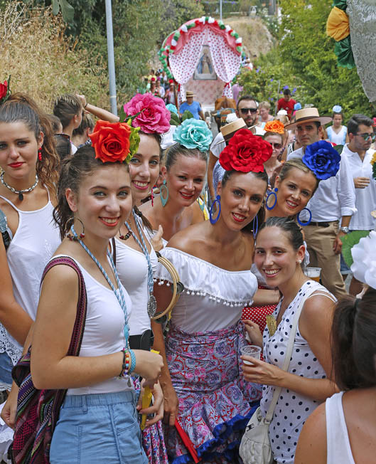
<svg viewBox="0 0 376 464">
<path fill-rule="evenodd" d="M 55 258 L 60 256 L 64 255 L 56 255 Z M 75 260 L 74 258 L 72 259 Z M 82 272 L 87 294 L 87 313 L 80 357 L 104 356 L 104 354 L 122 351 L 125 346 L 124 312 L 117 297 L 109 287 L 102 285 L 102 283 L 93 278 L 77 260 L 75 260 L 75 263 L 77 263 Z M 122 290 L 129 315 L 131 313 L 131 299 L 123 286 Z M 119 364 L 119 373 L 121 369 L 122 366 Z M 133 389 L 132 382 L 131 386 L 128 386 L 127 377 L 119 379 L 116 376 L 104 380 L 100 384 L 68 389 L 67 394 L 88 395 Z"/>
</svg>

